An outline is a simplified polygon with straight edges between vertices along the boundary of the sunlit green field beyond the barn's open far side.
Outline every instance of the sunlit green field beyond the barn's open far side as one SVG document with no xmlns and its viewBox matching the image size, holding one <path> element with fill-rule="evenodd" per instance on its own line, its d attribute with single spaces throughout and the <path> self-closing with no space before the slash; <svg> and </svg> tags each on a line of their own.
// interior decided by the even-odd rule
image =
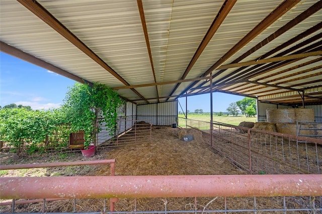
<svg viewBox="0 0 322 214">
<path fill-rule="evenodd" d="M 185 118 L 184 115 L 178 115 L 181 118 Z M 188 119 L 198 120 L 198 121 L 206 121 L 210 122 L 210 115 L 188 115 Z M 213 121 L 230 124 L 234 126 L 238 126 L 240 122 L 247 121 L 247 122 L 256 122 L 256 117 L 247 118 L 245 116 L 213 116 Z M 183 127 L 184 124 L 179 124 L 179 126 Z"/>
</svg>

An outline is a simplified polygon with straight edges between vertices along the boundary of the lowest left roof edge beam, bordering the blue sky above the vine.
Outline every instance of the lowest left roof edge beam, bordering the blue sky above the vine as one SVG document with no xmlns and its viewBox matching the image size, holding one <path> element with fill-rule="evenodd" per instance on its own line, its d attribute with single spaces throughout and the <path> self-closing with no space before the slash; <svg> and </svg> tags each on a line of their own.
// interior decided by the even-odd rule
<svg viewBox="0 0 322 214">
<path fill-rule="evenodd" d="M 10 46 L 10 45 L 2 42 L 2 41 L 0 43 L 0 51 L 4 52 L 6 54 L 12 55 L 14 57 L 17 57 L 19 59 L 22 59 L 22 60 L 24 60 L 26 62 L 32 63 L 34 65 L 37 65 L 39 67 L 45 68 L 47 70 L 50 70 L 52 72 L 55 72 L 57 74 L 60 74 L 60 75 L 62 75 L 64 77 L 67 77 L 69 79 L 75 80 L 77 82 L 86 83 L 86 84 L 90 84 L 90 85 L 92 84 L 91 82 L 88 82 L 88 81 L 86 81 L 85 79 L 83 79 L 83 78 L 81 78 L 79 76 L 76 76 L 76 75 L 74 75 L 72 73 L 69 73 L 68 71 L 65 71 L 65 70 L 63 70 L 61 68 L 58 68 L 58 67 L 56 67 L 56 66 L 54 66 L 54 65 L 52 65 L 52 64 L 50 64 L 48 62 L 45 62 L 45 61 L 43 61 L 43 60 L 41 60 L 39 58 L 36 58 L 36 57 L 26 53 L 26 52 L 23 52 L 23 51 L 19 50 L 18 48 L 12 47 L 12 46 Z"/>
</svg>

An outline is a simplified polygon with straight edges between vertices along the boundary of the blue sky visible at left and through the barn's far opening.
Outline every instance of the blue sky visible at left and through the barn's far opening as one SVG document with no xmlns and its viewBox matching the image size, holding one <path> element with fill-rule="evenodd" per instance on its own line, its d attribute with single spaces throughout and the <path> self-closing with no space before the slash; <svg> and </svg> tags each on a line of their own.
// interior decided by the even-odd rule
<svg viewBox="0 0 322 214">
<path fill-rule="evenodd" d="M 16 103 L 30 105 L 33 110 L 58 108 L 68 86 L 74 80 L 48 71 L 16 57 L 0 53 L 0 105 Z M 243 99 L 225 93 L 213 93 L 213 111 L 225 112 L 231 102 Z M 179 98 L 186 110 L 186 98 Z M 210 112 L 210 94 L 188 97 L 188 110 L 202 109 Z M 179 105 L 179 110 L 182 111 Z"/>
</svg>

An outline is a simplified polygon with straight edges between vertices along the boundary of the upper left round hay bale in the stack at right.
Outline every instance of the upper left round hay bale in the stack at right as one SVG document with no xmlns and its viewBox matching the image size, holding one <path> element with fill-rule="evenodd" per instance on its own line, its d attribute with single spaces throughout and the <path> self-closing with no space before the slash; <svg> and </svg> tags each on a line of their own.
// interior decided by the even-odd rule
<svg viewBox="0 0 322 214">
<path fill-rule="evenodd" d="M 269 123 L 295 123 L 294 109 L 267 109 L 267 122 Z"/>
</svg>

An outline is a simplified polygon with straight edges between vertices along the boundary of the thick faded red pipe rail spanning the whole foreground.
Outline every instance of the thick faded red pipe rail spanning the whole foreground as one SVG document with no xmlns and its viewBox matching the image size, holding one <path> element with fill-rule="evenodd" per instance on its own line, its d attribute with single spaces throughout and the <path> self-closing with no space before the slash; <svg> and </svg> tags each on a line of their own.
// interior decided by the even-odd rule
<svg viewBox="0 0 322 214">
<path fill-rule="evenodd" d="M 322 175 L 1 177 L 0 198 L 318 196 Z"/>
</svg>

